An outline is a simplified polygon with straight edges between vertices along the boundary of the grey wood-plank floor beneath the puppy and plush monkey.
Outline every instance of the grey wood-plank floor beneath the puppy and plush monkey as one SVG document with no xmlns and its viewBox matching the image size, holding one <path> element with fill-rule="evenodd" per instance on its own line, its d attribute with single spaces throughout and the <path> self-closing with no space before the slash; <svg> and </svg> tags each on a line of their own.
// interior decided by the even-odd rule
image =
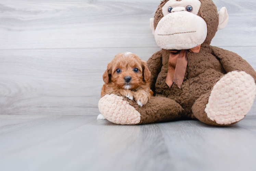
<svg viewBox="0 0 256 171">
<path fill-rule="evenodd" d="M 253 171 L 256 117 L 121 126 L 96 116 L 0 115 L 0 170 Z"/>
</svg>

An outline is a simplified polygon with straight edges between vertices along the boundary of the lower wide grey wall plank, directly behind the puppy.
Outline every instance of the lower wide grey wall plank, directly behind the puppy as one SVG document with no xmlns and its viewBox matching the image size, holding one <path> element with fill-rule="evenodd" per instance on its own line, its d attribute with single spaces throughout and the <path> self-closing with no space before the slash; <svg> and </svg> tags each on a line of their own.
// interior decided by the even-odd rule
<svg viewBox="0 0 256 171">
<path fill-rule="evenodd" d="M 221 47 L 254 69 L 253 47 Z M 114 55 L 147 61 L 160 48 L 0 50 L 0 114 L 98 115 L 102 75 Z M 249 115 L 255 115 L 256 105 Z"/>
</svg>

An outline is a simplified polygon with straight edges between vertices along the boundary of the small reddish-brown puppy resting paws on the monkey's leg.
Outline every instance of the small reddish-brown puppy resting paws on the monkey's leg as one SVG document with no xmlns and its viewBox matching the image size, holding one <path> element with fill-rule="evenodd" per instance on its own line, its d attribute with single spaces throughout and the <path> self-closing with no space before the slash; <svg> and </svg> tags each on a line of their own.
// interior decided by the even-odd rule
<svg viewBox="0 0 256 171">
<path fill-rule="evenodd" d="M 103 74 L 105 84 L 101 97 L 107 93 L 119 92 L 143 106 L 153 95 L 150 90 L 150 71 L 146 62 L 130 52 L 119 53 L 107 64 Z"/>
</svg>

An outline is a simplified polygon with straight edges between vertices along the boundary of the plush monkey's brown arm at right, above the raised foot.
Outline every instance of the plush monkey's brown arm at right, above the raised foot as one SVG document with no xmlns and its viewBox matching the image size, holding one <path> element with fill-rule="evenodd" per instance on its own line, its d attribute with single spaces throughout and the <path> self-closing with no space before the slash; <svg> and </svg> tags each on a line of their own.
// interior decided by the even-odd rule
<svg viewBox="0 0 256 171">
<path fill-rule="evenodd" d="M 241 56 L 218 47 L 210 47 L 212 48 L 212 54 L 220 59 L 220 63 L 227 73 L 234 70 L 245 71 L 247 74 L 251 75 L 256 82 L 255 70 Z"/>
</svg>

